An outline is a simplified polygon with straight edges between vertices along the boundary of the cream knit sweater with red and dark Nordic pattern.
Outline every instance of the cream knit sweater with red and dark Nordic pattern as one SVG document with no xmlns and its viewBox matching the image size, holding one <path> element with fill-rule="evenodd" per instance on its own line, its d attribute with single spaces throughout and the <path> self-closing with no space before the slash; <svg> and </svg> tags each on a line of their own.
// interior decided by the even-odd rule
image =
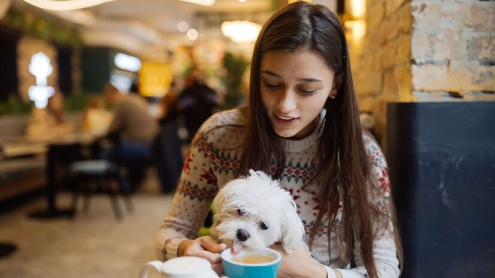
<svg viewBox="0 0 495 278">
<path fill-rule="evenodd" d="M 289 190 L 297 204 L 297 213 L 305 227 L 304 240 L 309 241 L 318 215 L 318 184 L 309 184 L 316 175 L 318 165 L 313 158 L 318 151 L 320 127 L 325 111 L 320 113 L 317 128 L 306 138 L 300 140 L 284 139 L 286 163 L 279 179 L 281 187 Z M 157 235 L 157 245 L 163 259 L 177 256 L 177 246 L 186 238 L 196 238 L 202 226 L 215 194 L 228 181 L 234 179 L 242 156 L 243 139 L 246 134 L 246 118 L 240 110 L 229 110 L 210 117 L 199 129 L 186 156 L 182 175 L 170 206 L 168 215 Z M 371 169 L 376 176 L 374 189 L 380 194 L 369 198 L 372 205 L 390 214 L 390 183 L 384 155 L 371 137 L 364 135 L 364 144 L 369 155 Z M 275 168 L 272 169 L 275 172 Z M 304 190 L 302 190 L 302 186 Z M 341 206 L 342 207 L 342 206 Z M 312 245 L 314 257 L 324 266 L 330 266 L 341 272 L 344 278 L 367 277 L 360 256 L 360 243 L 354 244 L 353 261 L 355 268 L 339 269 L 341 252 L 337 247 L 335 231 L 328 235 L 327 224 L 317 232 Z M 337 214 L 337 225 L 342 220 L 342 208 Z M 324 222 L 325 223 L 325 222 Z M 396 278 L 399 276 L 396 245 L 392 225 L 375 238 L 373 254 L 379 277 Z M 337 228 L 337 231 L 339 229 Z M 339 233 L 340 234 L 340 233 Z M 331 256 L 329 257 L 329 242 Z"/>
</svg>

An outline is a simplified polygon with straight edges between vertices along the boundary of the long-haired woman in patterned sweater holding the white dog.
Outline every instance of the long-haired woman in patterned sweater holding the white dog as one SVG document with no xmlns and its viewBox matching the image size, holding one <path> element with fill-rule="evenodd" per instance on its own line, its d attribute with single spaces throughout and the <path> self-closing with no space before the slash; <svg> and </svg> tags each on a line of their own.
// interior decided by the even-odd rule
<svg viewBox="0 0 495 278">
<path fill-rule="evenodd" d="M 387 165 L 363 133 L 346 36 L 327 7 L 295 2 L 262 28 L 251 64 L 246 111 L 217 113 L 186 157 L 168 216 L 158 232 L 164 259 L 199 256 L 221 271 L 211 237 L 196 238 L 219 186 L 247 169 L 271 173 L 289 190 L 306 229 L 279 277 L 398 277 L 401 248 Z"/>
</svg>

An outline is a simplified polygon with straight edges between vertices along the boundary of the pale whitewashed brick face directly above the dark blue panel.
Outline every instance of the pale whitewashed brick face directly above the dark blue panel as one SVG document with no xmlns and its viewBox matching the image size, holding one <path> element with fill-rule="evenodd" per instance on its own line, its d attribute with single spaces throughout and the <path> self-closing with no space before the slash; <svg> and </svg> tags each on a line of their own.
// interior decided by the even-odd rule
<svg viewBox="0 0 495 278">
<path fill-rule="evenodd" d="M 413 0 L 414 101 L 495 100 L 495 1 Z"/>
</svg>

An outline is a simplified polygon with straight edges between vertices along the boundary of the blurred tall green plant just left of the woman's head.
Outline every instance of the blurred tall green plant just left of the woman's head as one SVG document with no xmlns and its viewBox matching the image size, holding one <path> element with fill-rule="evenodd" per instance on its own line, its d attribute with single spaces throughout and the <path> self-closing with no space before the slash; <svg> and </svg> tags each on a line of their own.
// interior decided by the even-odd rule
<svg viewBox="0 0 495 278">
<path fill-rule="evenodd" d="M 227 93 L 222 109 L 231 109 L 241 104 L 244 95 L 241 91 L 243 75 L 246 72 L 247 60 L 242 55 L 234 55 L 226 52 L 223 57 L 223 66 L 227 71 L 225 85 Z"/>
</svg>

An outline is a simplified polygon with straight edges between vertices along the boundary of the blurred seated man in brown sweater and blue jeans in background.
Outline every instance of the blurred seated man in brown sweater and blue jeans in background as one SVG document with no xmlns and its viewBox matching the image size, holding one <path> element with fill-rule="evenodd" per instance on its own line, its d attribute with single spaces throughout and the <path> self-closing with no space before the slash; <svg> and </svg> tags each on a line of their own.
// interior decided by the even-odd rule
<svg viewBox="0 0 495 278">
<path fill-rule="evenodd" d="M 126 166 L 133 189 L 142 182 L 143 162 L 151 158 L 151 145 L 158 132 L 158 123 L 151 116 L 148 102 L 138 94 L 122 94 L 107 83 L 104 93 L 113 108 L 107 138 L 116 147 L 103 156 L 115 155 Z"/>
</svg>

